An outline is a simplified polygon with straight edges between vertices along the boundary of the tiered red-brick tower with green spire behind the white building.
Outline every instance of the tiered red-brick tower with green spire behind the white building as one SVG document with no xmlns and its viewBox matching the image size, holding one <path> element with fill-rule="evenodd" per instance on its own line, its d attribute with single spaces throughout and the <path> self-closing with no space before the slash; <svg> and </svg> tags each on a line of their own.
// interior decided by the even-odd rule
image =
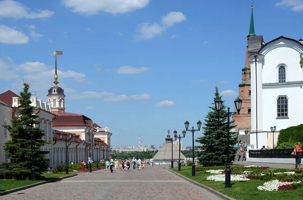
<svg viewBox="0 0 303 200">
<path fill-rule="evenodd" d="M 251 5 L 251 17 L 250 17 L 250 27 L 249 34 L 247 35 L 247 46 L 246 46 L 246 56 L 245 65 L 242 69 L 242 83 L 239 84 L 239 98 L 242 99 L 242 107 L 240 114 L 233 115 L 233 125 L 237 125 L 239 128 L 239 134 L 248 134 L 251 129 L 251 93 L 250 93 L 250 59 L 248 58 L 248 41 L 250 36 L 256 36 L 255 26 L 254 26 L 254 15 L 252 10 L 254 7 Z"/>
</svg>

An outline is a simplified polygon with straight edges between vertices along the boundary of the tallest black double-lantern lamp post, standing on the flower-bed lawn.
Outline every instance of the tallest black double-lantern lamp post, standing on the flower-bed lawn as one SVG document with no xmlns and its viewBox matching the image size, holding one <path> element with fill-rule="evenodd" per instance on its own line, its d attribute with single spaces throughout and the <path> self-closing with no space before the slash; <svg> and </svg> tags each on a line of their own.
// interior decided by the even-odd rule
<svg viewBox="0 0 303 200">
<path fill-rule="evenodd" d="M 220 98 L 215 100 L 215 105 L 216 105 L 218 114 L 220 113 L 222 103 L 223 103 L 223 101 Z M 229 109 L 230 109 L 229 107 L 227 108 L 227 112 L 224 112 L 224 114 L 227 114 L 227 165 L 226 165 L 226 170 L 225 170 L 225 188 L 231 187 L 231 184 L 230 184 L 231 169 L 229 166 L 229 164 L 230 164 L 229 163 L 229 117 L 231 117 L 233 114 L 240 114 L 242 100 L 237 98 L 234 101 L 234 103 L 235 103 L 237 112 L 229 112 Z"/>
</svg>

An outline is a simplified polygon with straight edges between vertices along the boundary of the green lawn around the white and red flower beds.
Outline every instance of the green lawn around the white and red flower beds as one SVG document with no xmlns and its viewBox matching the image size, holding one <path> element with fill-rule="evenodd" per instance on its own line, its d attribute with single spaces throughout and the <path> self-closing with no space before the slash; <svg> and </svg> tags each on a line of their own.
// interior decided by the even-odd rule
<svg viewBox="0 0 303 200">
<path fill-rule="evenodd" d="M 196 168 L 203 168 L 202 166 L 196 165 Z M 230 197 L 233 197 L 237 200 L 285 200 L 285 199 L 303 199 L 303 187 L 297 188 L 295 190 L 283 190 L 283 191 L 261 191 L 258 190 L 259 185 L 267 181 L 263 180 L 248 180 L 248 181 L 232 181 L 231 188 L 225 188 L 224 181 L 213 181 L 207 180 L 207 176 L 213 175 L 207 173 L 206 171 L 198 171 L 195 173 L 195 176 L 191 176 L 191 166 L 185 166 L 181 168 L 181 171 L 178 171 L 178 167 L 172 168 L 172 171 L 180 173 L 181 175 L 190 178 L 194 181 L 207 185 L 215 190 L 224 193 Z"/>
</svg>

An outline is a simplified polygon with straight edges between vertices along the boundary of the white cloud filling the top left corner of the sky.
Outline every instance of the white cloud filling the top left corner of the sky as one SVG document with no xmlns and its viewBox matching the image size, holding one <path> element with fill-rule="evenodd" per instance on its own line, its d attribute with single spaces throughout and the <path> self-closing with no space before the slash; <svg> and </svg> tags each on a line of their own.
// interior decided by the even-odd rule
<svg viewBox="0 0 303 200">
<path fill-rule="evenodd" d="M 12 0 L 4 0 L 0 2 L 0 17 L 35 19 L 48 18 L 54 14 L 54 12 L 48 10 L 37 10 L 36 12 L 30 11 L 30 9 L 25 5 Z"/>
</svg>

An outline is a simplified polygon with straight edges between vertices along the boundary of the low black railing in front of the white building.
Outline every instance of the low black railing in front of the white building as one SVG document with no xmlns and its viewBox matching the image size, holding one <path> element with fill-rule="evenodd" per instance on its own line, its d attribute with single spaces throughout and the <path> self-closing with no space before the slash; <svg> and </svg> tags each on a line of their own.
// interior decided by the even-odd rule
<svg viewBox="0 0 303 200">
<path fill-rule="evenodd" d="M 294 158 L 293 149 L 249 150 L 249 158 Z"/>
</svg>

